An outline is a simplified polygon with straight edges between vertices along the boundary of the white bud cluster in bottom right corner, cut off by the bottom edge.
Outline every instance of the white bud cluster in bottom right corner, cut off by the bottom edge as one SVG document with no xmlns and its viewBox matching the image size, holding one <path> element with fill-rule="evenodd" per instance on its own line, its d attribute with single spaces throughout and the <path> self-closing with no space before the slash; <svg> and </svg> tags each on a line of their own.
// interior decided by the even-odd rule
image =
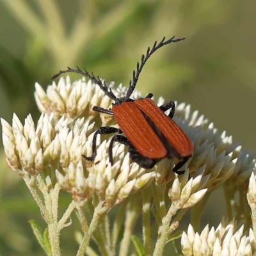
<svg viewBox="0 0 256 256">
<path fill-rule="evenodd" d="M 227 223 L 222 220 L 215 229 L 209 230 L 207 225 L 201 234 L 193 230 L 189 225 L 188 232 L 183 232 L 181 247 L 183 255 L 198 256 L 247 256 L 256 253 L 256 237 L 252 229 L 249 236 L 243 236 L 244 227 L 237 230 L 234 220 Z"/>
</svg>

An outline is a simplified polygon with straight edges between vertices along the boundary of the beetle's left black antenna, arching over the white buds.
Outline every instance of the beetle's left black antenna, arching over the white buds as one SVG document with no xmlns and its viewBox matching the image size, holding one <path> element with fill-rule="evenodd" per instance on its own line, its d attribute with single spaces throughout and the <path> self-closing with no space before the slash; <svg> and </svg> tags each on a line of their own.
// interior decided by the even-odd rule
<svg viewBox="0 0 256 256">
<path fill-rule="evenodd" d="M 105 81 L 100 80 L 100 77 L 97 78 L 94 76 L 93 72 L 92 75 L 89 74 L 89 72 L 84 68 L 84 71 L 81 70 L 79 67 L 76 67 L 77 69 L 73 69 L 68 67 L 67 70 L 60 70 L 58 74 L 55 74 L 51 77 L 51 79 L 55 79 L 56 77 L 60 76 L 61 74 L 67 73 L 67 72 L 74 72 L 77 74 L 81 74 L 82 76 L 86 76 L 89 79 L 91 79 L 95 84 L 98 84 L 100 86 L 100 89 L 110 98 L 113 100 L 116 100 L 116 95 L 112 92 L 111 88 L 108 89 L 108 86 L 106 85 Z"/>
</svg>

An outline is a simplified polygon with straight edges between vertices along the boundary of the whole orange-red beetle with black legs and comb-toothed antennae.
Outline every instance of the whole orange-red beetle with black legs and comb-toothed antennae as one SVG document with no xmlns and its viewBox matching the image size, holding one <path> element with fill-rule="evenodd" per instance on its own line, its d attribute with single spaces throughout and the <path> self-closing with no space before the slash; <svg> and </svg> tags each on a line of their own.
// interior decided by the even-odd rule
<svg viewBox="0 0 256 256">
<path fill-rule="evenodd" d="M 193 145 L 188 136 L 173 120 L 175 112 L 175 103 L 173 100 L 166 102 L 158 107 L 151 99 L 152 93 L 148 93 L 145 98 L 138 100 L 131 99 L 131 94 L 134 91 L 140 72 L 145 65 L 148 58 L 163 45 L 179 42 L 185 38 L 174 39 L 174 36 L 169 40 L 165 37 L 159 44 L 155 42 L 152 49 L 148 47 L 146 56 L 141 56 L 141 63 L 137 63 L 136 71 L 133 71 L 132 81 L 130 81 L 129 89 L 125 97 L 117 98 L 115 94 L 108 89 L 106 83 L 101 81 L 99 77 L 95 77 L 92 73 L 89 74 L 85 69 L 82 71 L 69 68 L 60 71 L 58 74 L 52 76 L 54 79 L 60 74 L 66 72 L 76 72 L 88 77 L 93 82 L 98 84 L 100 88 L 108 95 L 108 97 L 115 101 L 112 104 L 112 109 L 104 109 L 100 107 L 93 107 L 94 111 L 113 115 L 120 129 L 115 127 L 100 127 L 93 136 L 93 156 L 84 159 L 93 161 L 97 154 L 96 139 L 98 134 L 117 133 L 113 136 L 109 144 L 109 162 L 113 164 L 113 143 L 117 141 L 129 147 L 129 154 L 135 163 L 141 167 L 150 169 L 161 159 L 168 157 L 168 159 L 178 159 L 179 163 L 173 168 L 173 172 L 182 174 L 184 171 L 179 169 L 188 161 L 193 153 Z M 170 109 L 169 115 L 165 115 L 164 111 Z M 122 136 L 120 134 L 124 134 Z"/>
</svg>

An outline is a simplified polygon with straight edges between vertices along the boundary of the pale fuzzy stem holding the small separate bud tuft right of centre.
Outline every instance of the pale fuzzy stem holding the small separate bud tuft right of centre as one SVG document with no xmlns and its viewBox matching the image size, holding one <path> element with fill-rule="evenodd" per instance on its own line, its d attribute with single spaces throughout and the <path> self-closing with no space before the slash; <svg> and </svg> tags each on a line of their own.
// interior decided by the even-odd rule
<svg viewBox="0 0 256 256">
<path fill-rule="evenodd" d="M 179 207 L 172 204 L 166 216 L 163 218 L 162 225 L 158 229 L 158 237 L 153 256 L 163 255 L 165 244 L 168 241 L 168 237 L 170 236 L 170 222 L 178 210 Z"/>
</svg>

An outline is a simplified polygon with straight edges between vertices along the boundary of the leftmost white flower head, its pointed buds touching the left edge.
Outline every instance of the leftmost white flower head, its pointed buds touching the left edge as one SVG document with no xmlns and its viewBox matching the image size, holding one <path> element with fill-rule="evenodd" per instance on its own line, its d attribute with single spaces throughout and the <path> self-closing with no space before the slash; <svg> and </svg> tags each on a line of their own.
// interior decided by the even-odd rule
<svg viewBox="0 0 256 256">
<path fill-rule="evenodd" d="M 42 114 L 35 125 L 31 115 L 24 125 L 14 114 L 12 126 L 1 119 L 3 144 L 6 161 L 12 170 L 20 175 L 37 175 L 46 168 L 66 168 L 68 164 L 77 164 L 81 160 L 87 137 L 93 125 L 84 123 L 84 119 L 58 122 L 51 114 Z"/>
</svg>

